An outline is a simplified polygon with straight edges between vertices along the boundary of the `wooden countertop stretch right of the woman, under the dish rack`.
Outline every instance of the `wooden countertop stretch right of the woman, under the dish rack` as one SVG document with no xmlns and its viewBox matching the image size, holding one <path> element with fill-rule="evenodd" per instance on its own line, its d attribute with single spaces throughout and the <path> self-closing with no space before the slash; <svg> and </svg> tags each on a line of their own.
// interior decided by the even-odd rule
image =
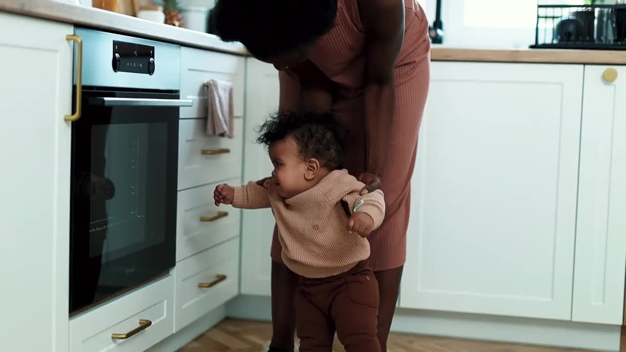
<svg viewBox="0 0 626 352">
<path fill-rule="evenodd" d="M 570 49 L 473 49 L 433 45 L 431 61 L 626 65 L 626 51 Z"/>
</svg>

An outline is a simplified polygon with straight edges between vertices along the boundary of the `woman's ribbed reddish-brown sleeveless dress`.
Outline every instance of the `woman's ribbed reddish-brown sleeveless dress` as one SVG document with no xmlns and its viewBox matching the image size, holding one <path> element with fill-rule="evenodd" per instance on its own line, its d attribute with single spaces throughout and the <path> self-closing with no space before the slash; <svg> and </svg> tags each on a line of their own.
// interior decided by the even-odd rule
<svg viewBox="0 0 626 352">
<path fill-rule="evenodd" d="M 358 176 L 365 168 L 363 84 L 367 32 L 361 24 L 357 0 L 338 0 L 337 24 L 310 54 L 312 61 L 337 83 L 333 110 L 350 131 L 346 168 Z M 415 165 L 418 130 L 430 81 L 428 20 L 416 0 L 404 0 L 404 44 L 395 66 L 396 114 L 389 158 L 382 176 L 387 214 L 381 227 L 369 236 L 370 264 L 374 271 L 403 266 L 409 222 L 411 176 Z M 299 83 L 289 71 L 280 72 L 280 108 L 295 110 Z M 386 118 L 386 116 L 380 116 Z M 272 259 L 280 259 L 280 242 L 274 230 Z"/>
</svg>

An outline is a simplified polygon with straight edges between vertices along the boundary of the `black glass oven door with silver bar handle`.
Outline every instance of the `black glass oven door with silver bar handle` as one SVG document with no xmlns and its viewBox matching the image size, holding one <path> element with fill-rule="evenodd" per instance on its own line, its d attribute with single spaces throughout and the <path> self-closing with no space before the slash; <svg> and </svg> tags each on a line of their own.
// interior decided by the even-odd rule
<svg viewBox="0 0 626 352">
<path fill-rule="evenodd" d="M 83 91 L 72 128 L 70 313 L 175 265 L 178 94 Z"/>
</svg>

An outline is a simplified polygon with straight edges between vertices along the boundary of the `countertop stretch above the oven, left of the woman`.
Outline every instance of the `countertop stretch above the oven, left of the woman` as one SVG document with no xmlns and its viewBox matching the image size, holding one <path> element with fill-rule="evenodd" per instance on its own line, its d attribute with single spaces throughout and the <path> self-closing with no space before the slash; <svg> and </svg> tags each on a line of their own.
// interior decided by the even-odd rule
<svg viewBox="0 0 626 352">
<path fill-rule="evenodd" d="M 222 51 L 224 53 L 239 55 L 248 53 L 242 44 L 224 43 L 212 34 L 53 0 L 0 0 L 0 11 L 51 19 L 53 21 L 71 23 L 76 26 L 113 31 L 148 39 L 158 39 L 169 43 Z"/>
</svg>

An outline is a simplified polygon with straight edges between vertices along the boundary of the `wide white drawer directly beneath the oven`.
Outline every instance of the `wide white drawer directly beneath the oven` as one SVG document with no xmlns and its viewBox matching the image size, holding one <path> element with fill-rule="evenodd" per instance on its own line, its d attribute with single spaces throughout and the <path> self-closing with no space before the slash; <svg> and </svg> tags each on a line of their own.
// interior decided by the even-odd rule
<svg viewBox="0 0 626 352">
<path fill-rule="evenodd" d="M 71 352 L 145 351 L 173 333 L 174 277 L 169 275 L 142 289 L 73 318 L 69 322 Z M 151 325 L 126 339 L 143 321 Z M 120 336 L 121 338 L 121 336 Z"/>
</svg>

